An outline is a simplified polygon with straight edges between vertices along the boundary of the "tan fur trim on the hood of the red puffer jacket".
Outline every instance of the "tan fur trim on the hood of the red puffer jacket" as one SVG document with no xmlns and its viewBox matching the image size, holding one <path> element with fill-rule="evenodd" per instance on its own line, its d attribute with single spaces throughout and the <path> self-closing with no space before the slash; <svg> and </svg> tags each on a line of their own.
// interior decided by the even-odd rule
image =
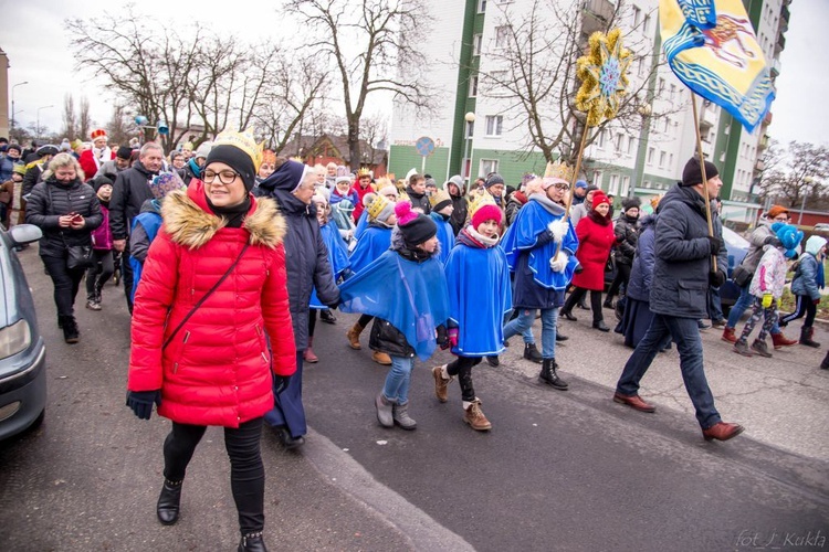
<svg viewBox="0 0 829 552">
<path fill-rule="evenodd" d="M 161 217 L 172 241 L 191 250 L 208 243 L 227 224 L 224 217 L 210 211 L 201 181 L 191 182 L 187 190 L 168 193 L 161 205 Z M 251 198 L 251 209 L 242 227 L 250 233 L 251 245 L 271 248 L 282 243 L 286 232 L 276 202 L 269 198 Z"/>
</svg>

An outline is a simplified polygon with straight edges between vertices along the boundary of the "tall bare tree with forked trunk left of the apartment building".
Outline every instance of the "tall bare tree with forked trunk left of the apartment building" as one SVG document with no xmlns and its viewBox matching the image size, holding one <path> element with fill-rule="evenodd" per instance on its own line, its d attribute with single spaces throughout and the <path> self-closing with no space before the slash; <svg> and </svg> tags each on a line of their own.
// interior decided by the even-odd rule
<svg viewBox="0 0 829 552">
<path fill-rule="evenodd" d="M 360 121 L 375 93 L 390 92 L 420 112 L 432 109 L 426 57 L 418 50 L 429 23 L 421 0 L 288 0 L 317 31 L 307 47 L 327 55 L 342 86 L 349 159 L 360 157 Z"/>
</svg>

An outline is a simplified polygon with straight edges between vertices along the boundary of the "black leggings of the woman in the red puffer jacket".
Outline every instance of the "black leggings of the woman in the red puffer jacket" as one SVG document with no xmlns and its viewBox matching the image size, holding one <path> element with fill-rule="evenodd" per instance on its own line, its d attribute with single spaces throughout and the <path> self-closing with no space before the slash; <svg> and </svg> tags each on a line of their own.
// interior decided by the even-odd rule
<svg viewBox="0 0 829 552">
<path fill-rule="evenodd" d="M 196 445 L 207 429 L 203 425 L 172 423 L 164 442 L 164 476 L 170 481 L 185 478 Z M 265 527 L 265 468 L 260 454 L 262 418 L 224 428 L 224 448 L 230 457 L 230 488 L 239 512 L 242 534 L 262 531 Z M 195 486 L 193 486 L 195 487 Z"/>
</svg>

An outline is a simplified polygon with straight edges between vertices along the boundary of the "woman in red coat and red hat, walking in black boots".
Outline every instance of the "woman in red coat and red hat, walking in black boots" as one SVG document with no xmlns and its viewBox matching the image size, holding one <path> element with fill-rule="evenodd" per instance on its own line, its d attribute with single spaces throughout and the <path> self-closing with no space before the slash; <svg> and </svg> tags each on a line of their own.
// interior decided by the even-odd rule
<svg viewBox="0 0 829 552">
<path fill-rule="evenodd" d="M 581 263 L 583 270 L 573 276 L 575 289 L 564 302 L 562 316 L 567 320 L 576 320 L 573 307 L 590 291 L 590 308 L 592 309 L 592 327 L 597 330 L 609 331 L 601 312 L 601 291 L 605 289 L 605 265 L 610 248 L 616 242 L 613 222 L 610 220 L 610 200 L 601 190 L 594 192 L 592 208 L 587 216 L 576 225 L 578 250 L 576 258 Z"/>
</svg>

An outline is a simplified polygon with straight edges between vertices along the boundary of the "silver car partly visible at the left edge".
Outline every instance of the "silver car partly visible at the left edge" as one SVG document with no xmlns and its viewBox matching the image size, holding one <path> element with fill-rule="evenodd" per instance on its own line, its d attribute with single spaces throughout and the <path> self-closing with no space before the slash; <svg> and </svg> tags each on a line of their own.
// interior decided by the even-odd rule
<svg viewBox="0 0 829 552">
<path fill-rule="evenodd" d="M 46 348 L 15 247 L 41 238 L 38 226 L 0 230 L 0 439 L 43 421 Z"/>
</svg>

